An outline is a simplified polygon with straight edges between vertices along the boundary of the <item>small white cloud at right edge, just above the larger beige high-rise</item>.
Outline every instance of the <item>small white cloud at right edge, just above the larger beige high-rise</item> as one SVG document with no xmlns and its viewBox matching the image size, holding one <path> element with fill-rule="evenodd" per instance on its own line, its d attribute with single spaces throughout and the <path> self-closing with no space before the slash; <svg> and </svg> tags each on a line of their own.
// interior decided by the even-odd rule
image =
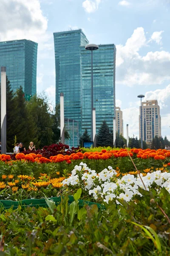
<svg viewBox="0 0 170 256">
<path fill-rule="evenodd" d="M 161 109 L 167 107 L 166 103 L 170 102 L 170 84 L 164 89 L 157 89 L 145 93 L 144 101 L 152 99 L 157 99 Z"/>
</svg>

